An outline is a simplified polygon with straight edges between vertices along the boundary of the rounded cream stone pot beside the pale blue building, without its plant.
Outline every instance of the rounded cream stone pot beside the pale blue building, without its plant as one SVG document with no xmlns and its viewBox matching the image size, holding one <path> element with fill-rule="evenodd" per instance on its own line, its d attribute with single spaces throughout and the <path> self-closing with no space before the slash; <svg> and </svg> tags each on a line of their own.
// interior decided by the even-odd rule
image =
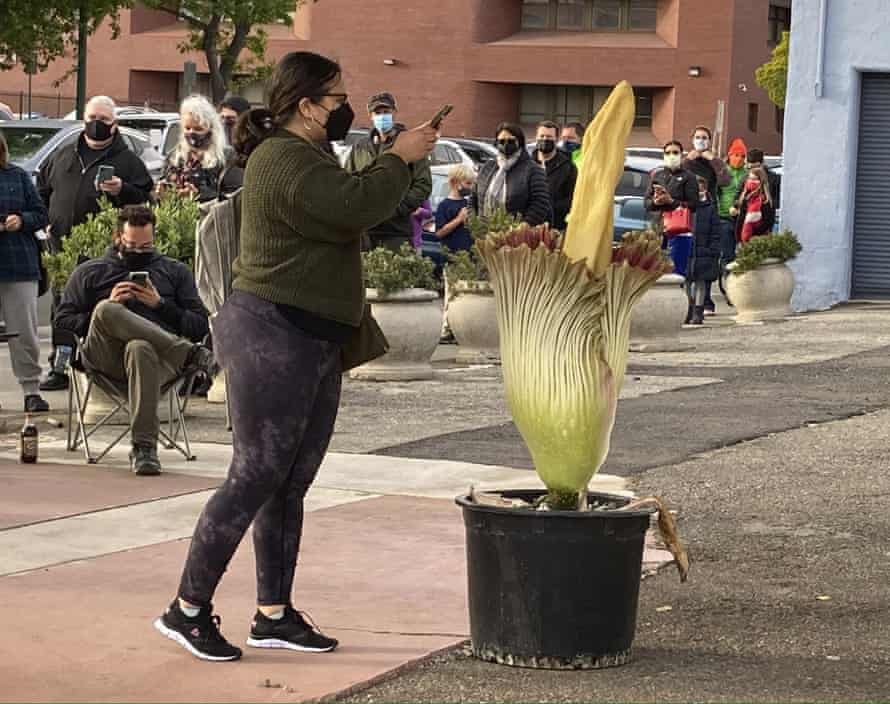
<svg viewBox="0 0 890 704">
<path fill-rule="evenodd" d="M 736 267 L 729 265 L 730 272 Z M 736 322 L 755 323 L 791 315 L 794 274 L 785 262 L 765 259 L 744 274 L 726 277 L 726 293 L 736 308 Z"/>
</svg>

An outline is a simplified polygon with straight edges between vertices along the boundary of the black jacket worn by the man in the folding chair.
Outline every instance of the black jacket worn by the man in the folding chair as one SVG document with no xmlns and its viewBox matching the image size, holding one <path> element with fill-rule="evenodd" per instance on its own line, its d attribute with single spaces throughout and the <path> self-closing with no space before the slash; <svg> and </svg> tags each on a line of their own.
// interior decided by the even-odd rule
<svg viewBox="0 0 890 704">
<path fill-rule="evenodd" d="M 148 272 L 163 299 L 161 307 L 149 308 L 134 300 L 124 305 L 167 332 L 192 342 L 203 340 L 210 329 L 207 309 L 198 296 L 191 270 L 182 262 L 161 254 L 156 254 L 143 270 Z M 109 247 L 105 256 L 84 262 L 68 279 L 53 325 L 85 337 L 96 306 L 111 296 L 111 289 L 116 284 L 126 281 L 129 276 L 130 270 L 124 266 L 114 247 Z"/>
</svg>

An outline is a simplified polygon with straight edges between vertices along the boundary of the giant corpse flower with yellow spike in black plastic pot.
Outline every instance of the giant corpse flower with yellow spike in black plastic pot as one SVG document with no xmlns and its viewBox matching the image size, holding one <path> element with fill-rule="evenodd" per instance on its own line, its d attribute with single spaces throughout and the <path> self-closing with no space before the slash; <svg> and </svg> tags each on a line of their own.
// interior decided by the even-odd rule
<svg viewBox="0 0 890 704">
<path fill-rule="evenodd" d="M 685 550 L 660 500 L 588 493 L 609 451 L 632 309 L 671 270 L 654 233 L 629 233 L 612 246 L 612 194 L 634 105 L 622 82 L 588 128 L 590 156 L 565 238 L 520 224 L 479 243 L 508 405 L 546 486 L 458 499 L 473 652 L 486 660 L 566 669 L 626 662 L 653 503 L 686 577 Z"/>
</svg>

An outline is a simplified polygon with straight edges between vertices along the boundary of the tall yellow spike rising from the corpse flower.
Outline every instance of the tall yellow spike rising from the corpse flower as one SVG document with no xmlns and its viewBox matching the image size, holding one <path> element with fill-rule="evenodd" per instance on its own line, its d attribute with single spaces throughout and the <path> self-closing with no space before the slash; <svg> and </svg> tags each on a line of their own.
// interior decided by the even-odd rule
<svg viewBox="0 0 890 704">
<path fill-rule="evenodd" d="M 584 133 L 581 170 L 563 252 L 572 261 L 586 260 L 598 276 L 612 261 L 615 186 L 624 171 L 624 148 L 635 112 L 633 89 L 622 81 Z"/>
</svg>

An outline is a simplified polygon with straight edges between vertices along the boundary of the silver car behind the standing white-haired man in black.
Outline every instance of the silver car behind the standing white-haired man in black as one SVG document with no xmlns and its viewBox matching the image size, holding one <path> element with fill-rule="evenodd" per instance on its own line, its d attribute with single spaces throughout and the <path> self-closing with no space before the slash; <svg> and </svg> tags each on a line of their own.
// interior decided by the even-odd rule
<svg viewBox="0 0 890 704">
<path fill-rule="evenodd" d="M 36 179 L 46 160 L 57 149 L 71 144 L 83 131 L 83 123 L 69 120 L 24 120 L 4 122 L 0 131 L 9 144 L 10 160 Z M 148 135 L 132 127 L 121 127 L 121 137 L 137 154 L 155 180 L 164 170 L 164 157 L 151 146 Z"/>
</svg>

